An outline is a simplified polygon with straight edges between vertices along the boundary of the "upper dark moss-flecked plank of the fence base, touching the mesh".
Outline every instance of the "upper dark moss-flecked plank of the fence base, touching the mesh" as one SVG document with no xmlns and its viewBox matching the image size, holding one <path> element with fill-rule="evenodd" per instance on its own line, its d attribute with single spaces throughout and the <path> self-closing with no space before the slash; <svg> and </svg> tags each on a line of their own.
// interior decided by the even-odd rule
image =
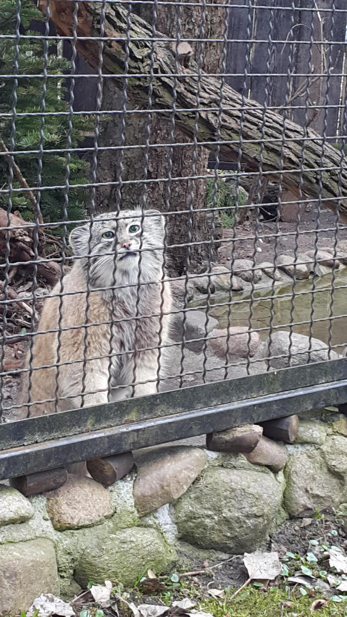
<svg viewBox="0 0 347 617">
<path fill-rule="evenodd" d="M 18 420 L 0 424 L 0 450 L 86 433 L 91 429 L 97 430 L 148 418 L 161 418 L 192 409 L 229 404 L 229 402 L 284 392 L 311 384 L 329 383 L 344 379 L 346 375 L 347 358 L 340 358 L 284 368 L 261 375 L 226 379 L 171 392 L 161 392 L 137 399 L 122 400 L 118 403 Z M 291 412 L 292 410 L 289 410 L 283 415 L 290 415 Z M 234 426 L 237 426 L 237 423 Z M 212 431 L 202 431 L 202 434 L 208 432 Z M 106 452 L 105 455 L 109 453 Z"/>
</svg>

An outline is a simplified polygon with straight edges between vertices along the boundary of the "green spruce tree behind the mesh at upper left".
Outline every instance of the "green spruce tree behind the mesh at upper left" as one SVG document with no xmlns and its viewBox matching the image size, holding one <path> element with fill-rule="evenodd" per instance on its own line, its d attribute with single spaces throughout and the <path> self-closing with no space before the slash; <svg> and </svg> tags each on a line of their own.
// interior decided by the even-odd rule
<svg viewBox="0 0 347 617">
<path fill-rule="evenodd" d="M 32 0 L 20 2 L 20 37 L 15 37 L 17 16 L 17 0 L 2 0 L 0 14 L 0 35 L 10 35 L 10 38 L 0 39 L 0 138 L 8 150 L 11 149 L 12 106 L 14 105 L 14 77 L 15 73 L 15 46 L 18 44 L 18 86 L 15 92 L 17 101 L 15 110 L 18 115 L 15 119 L 14 137 L 15 163 L 20 168 L 23 177 L 30 187 L 38 186 L 40 164 L 39 146 L 42 144 L 41 156 L 41 186 L 63 186 L 65 184 L 67 155 L 66 152 L 48 152 L 68 147 L 69 110 L 68 91 L 64 77 L 47 77 L 44 84 L 44 39 L 39 37 L 38 31 L 30 30 L 33 20 L 44 20 L 43 14 L 36 9 Z M 37 38 L 23 38 L 23 35 Z M 47 75 L 62 75 L 68 72 L 70 62 L 57 56 L 57 42 L 49 40 L 46 70 Z M 6 75 L 9 75 L 7 78 Z M 21 77 L 28 75 L 28 77 Z M 31 77 L 40 75 L 42 77 Z M 27 115 L 44 112 L 65 112 L 65 115 L 46 115 L 44 122 L 40 115 Z M 4 114 L 10 114 L 4 116 Z M 71 147 L 78 146 L 86 130 L 89 130 L 90 120 L 82 116 L 73 116 L 71 119 L 72 131 Z M 88 191 L 82 188 L 73 188 L 73 184 L 86 182 L 88 164 L 77 154 L 71 153 L 69 162 L 71 186 L 68 193 L 68 220 L 78 220 L 85 214 L 85 204 Z M 9 186 L 9 164 L 4 156 L 0 156 L 0 188 Z M 14 178 L 14 188 L 20 188 Z M 33 191 L 35 194 L 35 190 Z M 36 191 L 37 193 L 37 191 Z M 22 217 L 32 220 L 33 207 L 25 192 L 12 194 L 12 210 L 19 210 Z M 45 223 L 58 222 L 63 218 L 64 195 L 62 189 L 41 191 L 40 207 Z M 8 195 L 0 194 L 0 207 L 7 209 Z"/>
</svg>

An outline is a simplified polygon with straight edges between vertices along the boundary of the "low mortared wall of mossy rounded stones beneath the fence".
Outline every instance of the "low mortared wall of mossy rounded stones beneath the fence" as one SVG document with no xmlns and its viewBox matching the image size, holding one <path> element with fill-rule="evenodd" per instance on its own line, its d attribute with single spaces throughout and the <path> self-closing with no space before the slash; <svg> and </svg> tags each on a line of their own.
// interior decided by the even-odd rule
<svg viewBox="0 0 347 617">
<path fill-rule="evenodd" d="M 132 584 L 179 563 L 183 540 L 251 552 L 288 517 L 347 508 L 347 418 L 301 416 L 284 470 L 242 454 L 174 445 L 138 453 L 126 478 L 104 488 L 69 476 L 30 499 L 0 487 L 0 615 L 26 610 L 41 592 L 71 596 L 89 581 Z"/>
</svg>

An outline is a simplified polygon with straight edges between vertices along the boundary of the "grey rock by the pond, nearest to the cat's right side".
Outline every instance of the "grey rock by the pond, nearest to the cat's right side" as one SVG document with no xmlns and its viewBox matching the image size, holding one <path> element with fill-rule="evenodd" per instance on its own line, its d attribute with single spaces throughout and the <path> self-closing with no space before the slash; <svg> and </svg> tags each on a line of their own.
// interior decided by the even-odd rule
<svg viewBox="0 0 347 617">
<path fill-rule="evenodd" d="M 183 336 L 183 317 L 184 313 L 174 313 L 172 317 L 171 338 L 176 342 L 182 341 Z M 213 330 L 218 327 L 218 321 L 207 316 L 202 310 L 187 310 L 186 311 L 186 347 L 192 351 L 199 352 L 203 349 L 204 340 Z M 201 339 L 194 341 L 192 339 Z M 192 341 L 192 342 L 189 342 Z"/>
</svg>

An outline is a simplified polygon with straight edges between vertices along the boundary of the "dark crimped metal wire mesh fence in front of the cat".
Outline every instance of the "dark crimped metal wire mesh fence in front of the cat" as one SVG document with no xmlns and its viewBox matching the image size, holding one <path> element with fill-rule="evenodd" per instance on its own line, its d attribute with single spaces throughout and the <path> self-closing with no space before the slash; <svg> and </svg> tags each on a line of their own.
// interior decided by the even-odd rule
<svg viewBox="0 0 347 617">
<path fill-rule="evenodd" d="M 343 362 L 346 27 L 345 0 L 4 0 L 3 422 Z"/>
</svg>

